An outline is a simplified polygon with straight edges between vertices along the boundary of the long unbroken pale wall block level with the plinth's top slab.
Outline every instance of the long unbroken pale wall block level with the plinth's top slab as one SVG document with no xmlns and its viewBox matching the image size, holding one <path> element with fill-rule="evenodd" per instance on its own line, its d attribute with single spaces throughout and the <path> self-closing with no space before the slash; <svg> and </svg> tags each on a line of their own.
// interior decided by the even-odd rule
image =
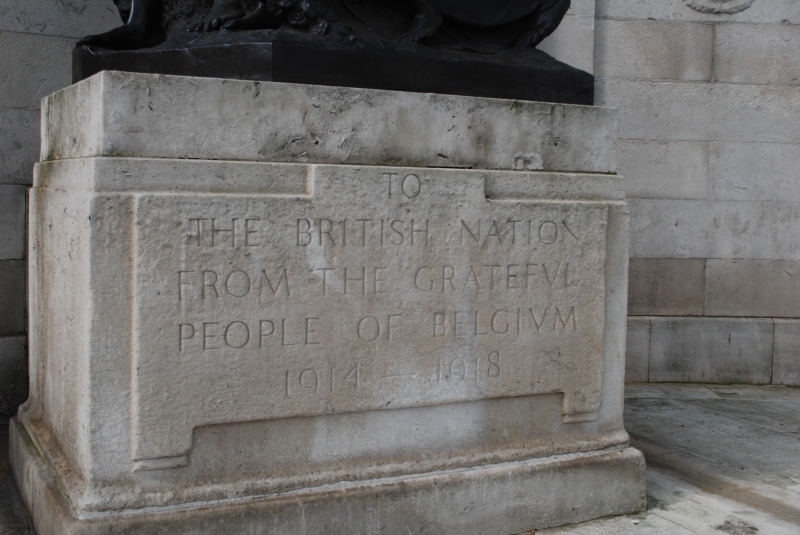
<svg viewBox="0 0 800 535">
<path fill-rule="evenodd" d="M 599 80 L 595 103 L 619 108 L 619 136 L 653 141 L 800 142 L 797 87 Z"/>
</svg>

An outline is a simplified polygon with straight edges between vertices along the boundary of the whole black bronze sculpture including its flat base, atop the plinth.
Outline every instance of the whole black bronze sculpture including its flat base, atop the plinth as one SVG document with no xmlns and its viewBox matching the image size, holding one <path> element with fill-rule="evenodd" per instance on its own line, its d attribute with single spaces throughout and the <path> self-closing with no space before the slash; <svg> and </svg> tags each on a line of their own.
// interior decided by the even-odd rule
<svg viewBox="0 0 800 535">
<path fill-rule="evenodd" d="M 102 70 L 591 105 L 594 77 L 535 47 L 569 0 L 115 0 L 81 40 Z"/>
</svg>

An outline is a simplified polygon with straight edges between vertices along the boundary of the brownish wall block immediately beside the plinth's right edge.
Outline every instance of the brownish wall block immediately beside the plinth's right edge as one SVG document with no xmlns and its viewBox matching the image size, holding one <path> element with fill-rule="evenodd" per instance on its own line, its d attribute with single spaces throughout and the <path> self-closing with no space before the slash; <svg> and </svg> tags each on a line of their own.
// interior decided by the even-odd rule
<svg viewBox="0 0 800 535">
<path fill-rule="evenodd" d="M 631 258 L 628 314 L 702 315 L 705 263 L 702 259 Z"/>
</svg>

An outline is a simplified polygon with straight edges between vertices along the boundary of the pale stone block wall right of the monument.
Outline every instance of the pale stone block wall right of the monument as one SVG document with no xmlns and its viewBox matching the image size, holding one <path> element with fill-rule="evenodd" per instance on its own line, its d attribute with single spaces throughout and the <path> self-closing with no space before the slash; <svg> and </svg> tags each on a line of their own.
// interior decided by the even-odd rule
<svg viewBox="0 0 800 535">
<path fill-rule="evenodd" d="M 798 49 L 795 0 L 598 0 L 596 103 L 620 110 L 631 209 L 629 382 L 800 384 Z"/>
</svg>

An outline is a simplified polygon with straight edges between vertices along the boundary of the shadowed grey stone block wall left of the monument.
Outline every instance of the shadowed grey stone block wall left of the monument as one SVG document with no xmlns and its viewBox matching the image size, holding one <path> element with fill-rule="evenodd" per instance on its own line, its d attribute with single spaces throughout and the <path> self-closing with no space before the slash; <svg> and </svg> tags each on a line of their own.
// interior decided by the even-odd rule
<svg viewBox="0 0 800 535">
<path fill-rule="evenodd" d="M 78 37 L 117 24 L 111 0 L 0 0 L 0 418 L 27 398 L 26 189 L 39 101 L 71 83 Z"/>
</svg>

